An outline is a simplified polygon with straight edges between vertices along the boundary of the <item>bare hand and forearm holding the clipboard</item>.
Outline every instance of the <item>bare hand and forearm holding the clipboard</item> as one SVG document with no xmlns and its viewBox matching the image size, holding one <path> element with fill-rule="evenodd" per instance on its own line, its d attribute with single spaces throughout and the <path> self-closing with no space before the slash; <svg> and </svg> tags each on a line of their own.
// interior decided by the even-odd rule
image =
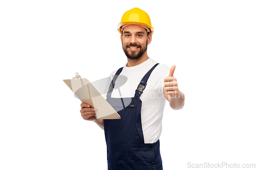
<svg viewBox="0 0 256 170">
<path fill-rule="evenodd" d="M 94 116 L 97 111 L 90 107 L 87 103 L 81 103 L 81 110 L 80 110 L 81 116 L 84 120 L 89 120 L 95 122 L 101 129 L 104 130 L 104 122 L 103 119 L 96 119 Z"/>
</svg>

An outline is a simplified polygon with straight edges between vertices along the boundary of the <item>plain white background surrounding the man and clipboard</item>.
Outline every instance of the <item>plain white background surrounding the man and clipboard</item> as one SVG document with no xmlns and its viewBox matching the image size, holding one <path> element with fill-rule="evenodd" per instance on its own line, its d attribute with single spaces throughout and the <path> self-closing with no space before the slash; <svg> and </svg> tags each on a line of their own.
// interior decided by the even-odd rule
<svg viewBox="0 0 256 170">
<path fill-rule="evenodd" d="M 166 105 L 164 169 L 256 164 L 255 1 L 1 1 L 0 169 L 107 169 L 104 132 L 62 81 L 126 63 L 117 25 L 134 7 L 154 27 L 148 56 L 176 65 L 185 106 Z"/>
</svg>

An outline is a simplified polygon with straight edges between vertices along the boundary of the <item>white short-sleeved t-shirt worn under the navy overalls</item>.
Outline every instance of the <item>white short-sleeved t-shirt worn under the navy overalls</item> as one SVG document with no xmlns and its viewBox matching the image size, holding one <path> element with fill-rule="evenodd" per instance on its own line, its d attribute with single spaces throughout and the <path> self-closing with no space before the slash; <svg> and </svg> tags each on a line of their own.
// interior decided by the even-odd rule
<svg viewBox="0 0 256 170">
<path fill-rule="evenodd" d="M 141 79 L 156 63 L 150 58 L 133 67 L 126 67 L 125 65 L 120 75 L 126 76 L 127 82 L 119 89 L 113 90 L 112 98 L 133 98 Z M 146 87 L 140 95 L 140 100 L 142 101 L 141 123 L 145 143 L 155 143 L 162 132 L 162 117 L 166 103 L 163 95 L 163 83 L 164 78 L 169 74 L 169 70 L 167 65 L 159 64 L 152 71 Z M 111 73 L 112 78 L 116 71 Z M 120 80 L 117 78 L 115 84 L 118 84 L 118 81 Z"/>
</svg>

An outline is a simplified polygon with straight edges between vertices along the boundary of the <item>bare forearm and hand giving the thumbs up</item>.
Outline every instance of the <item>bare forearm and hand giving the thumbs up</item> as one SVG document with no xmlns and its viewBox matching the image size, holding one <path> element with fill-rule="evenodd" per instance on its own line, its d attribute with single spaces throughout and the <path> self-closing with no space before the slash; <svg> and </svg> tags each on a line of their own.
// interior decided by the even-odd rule
<svg viewBox="0 0 256 170">
<path fill-rule="evenodd" d="M 164 78 L 163 94 L 174 110 L 182 109 L 184 106 L 185 95 L 178 89 L 178 83 L 173 76 L 175 65 L 170 68 L 170 73 Z"/>
</svg>

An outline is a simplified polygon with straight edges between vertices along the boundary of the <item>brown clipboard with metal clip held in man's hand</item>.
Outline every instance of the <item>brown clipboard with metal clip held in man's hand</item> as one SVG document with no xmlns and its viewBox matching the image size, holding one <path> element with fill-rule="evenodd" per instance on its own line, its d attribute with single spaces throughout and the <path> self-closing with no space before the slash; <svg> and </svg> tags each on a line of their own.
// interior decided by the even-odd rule
<svg viewBox="0 0 256 170">
<path fill-rule="evenodd" d="M 102 97 L 98 90 L 85 78 L 76 72 L 73 79 L 63 80 L 82 103 L 87 103 L 97 110 L 97 119 L 120 119 L 120 115 Z"/>
</svg>

